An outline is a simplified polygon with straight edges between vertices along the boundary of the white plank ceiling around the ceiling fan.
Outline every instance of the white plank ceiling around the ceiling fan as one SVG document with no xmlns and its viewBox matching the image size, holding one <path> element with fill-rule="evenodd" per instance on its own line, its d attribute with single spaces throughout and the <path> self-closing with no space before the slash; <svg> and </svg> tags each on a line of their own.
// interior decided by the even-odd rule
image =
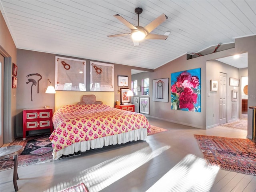
<svg viewBox="0 0 256 192">
<path fill-rule="evenodd" d="M 183 54 L 256 34 L 255 0 L 0 0 L 1 12 L 17 48 L 155 69 Z M 160 14 L 168 19 L 152 31 L 167 40 L 133 46 L 120 14 L 137 26 Z"/>
</svg>

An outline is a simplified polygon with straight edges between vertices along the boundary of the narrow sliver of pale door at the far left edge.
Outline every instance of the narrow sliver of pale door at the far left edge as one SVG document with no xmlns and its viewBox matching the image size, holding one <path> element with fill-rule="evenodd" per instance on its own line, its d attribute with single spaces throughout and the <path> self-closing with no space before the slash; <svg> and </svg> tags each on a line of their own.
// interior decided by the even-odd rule
<svg viewBox="0 0 256 192">
<path fill-rule="evenodd" d="M 4 144 L 4 57 L 0 55 L 0 146 Z"/>
</svg>

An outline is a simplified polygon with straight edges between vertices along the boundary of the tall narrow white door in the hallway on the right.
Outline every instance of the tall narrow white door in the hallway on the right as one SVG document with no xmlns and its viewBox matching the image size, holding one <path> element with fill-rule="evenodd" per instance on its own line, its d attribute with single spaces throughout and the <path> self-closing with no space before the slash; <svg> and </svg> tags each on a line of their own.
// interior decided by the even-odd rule
<svg viewBox="0 0 256 192">
<path fill-rule="evenodd" d="M 227 122 L 227 74 L 220 72 L 220 124 Z"/>
</svg>

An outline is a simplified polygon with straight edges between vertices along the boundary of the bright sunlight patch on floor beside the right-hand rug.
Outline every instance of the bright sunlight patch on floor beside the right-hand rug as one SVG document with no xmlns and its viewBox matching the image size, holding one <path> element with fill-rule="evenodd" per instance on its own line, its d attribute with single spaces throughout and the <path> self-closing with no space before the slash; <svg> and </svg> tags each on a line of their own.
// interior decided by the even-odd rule
<svg viewBox="0 0 256 192">
<path fill-rule="evenodd" d="M 220 168 L 208 166 L 204 159 L 188 154 L 146 192 L 208 192 Z"/>
</svg>

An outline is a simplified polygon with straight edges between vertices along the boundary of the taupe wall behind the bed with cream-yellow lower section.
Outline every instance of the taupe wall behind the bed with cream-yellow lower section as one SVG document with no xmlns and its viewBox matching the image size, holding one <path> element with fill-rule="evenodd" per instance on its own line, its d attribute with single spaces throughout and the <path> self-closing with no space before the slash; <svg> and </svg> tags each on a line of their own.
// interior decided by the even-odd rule
<svg viewBox="0 0 256 192">
<path fill-rule="evenodd" d="M 46 94 L 45 89 L 49 82 L 55 82 L 55 54 L 44 52 L 36 52 L 30 50 L 17 50 L 18 59 L 18 88 L 17 88 L 17 116 L 16 116 L 16 132 L 17 136 L 22 135 L 22 110 L 25 108 L 42 108 L 46 105 L 53 108 L 53 111 L 61 106 L 68 104 L 76 104 L 84 94 L 95 94 L 97 100 L 101 100 L 104 104 L 114 107 L 115 100 L 120 100 L 120 94 L 117 90 L 120 89 L 117 85 L 118 75 L 127 75 L 129 78 L 129 87 L 131 85 L 131 66 L 114 64 L 114 92 L 90 92 L 90 61 L 86 58 L 76 58 L 86 60 L 86 92 L 81 91 L 56 91 L 56 94 Z M 69 57 L 69 56 L 64 56 Z M 70 57 L 74 58 L 74 57 Z M 98 61 L 97 61 L 98 62 Z M 101 62 L 101 61 L 100 61 Z M 134 68 L 134 67 L 133 67 Z M 144 68 L 136 68 L 140 70 L 149 70 Z M 37 85 L 32 86 L 28 82 L 29 78 L 38 80 L 39 76 L 29 76 L 29 74 L 40 74 L 42 79 L 39 81 L 39 93 L 37 93 Z M 28 84 L 26 83 L 28 82 Z M 32 100 L 31 101 L 31 86 Z M 36 133 L 46 132 L 48 130 L 34 131 Z M 31 131 L 31 134 L 34 134 Z"/>
</svg>

